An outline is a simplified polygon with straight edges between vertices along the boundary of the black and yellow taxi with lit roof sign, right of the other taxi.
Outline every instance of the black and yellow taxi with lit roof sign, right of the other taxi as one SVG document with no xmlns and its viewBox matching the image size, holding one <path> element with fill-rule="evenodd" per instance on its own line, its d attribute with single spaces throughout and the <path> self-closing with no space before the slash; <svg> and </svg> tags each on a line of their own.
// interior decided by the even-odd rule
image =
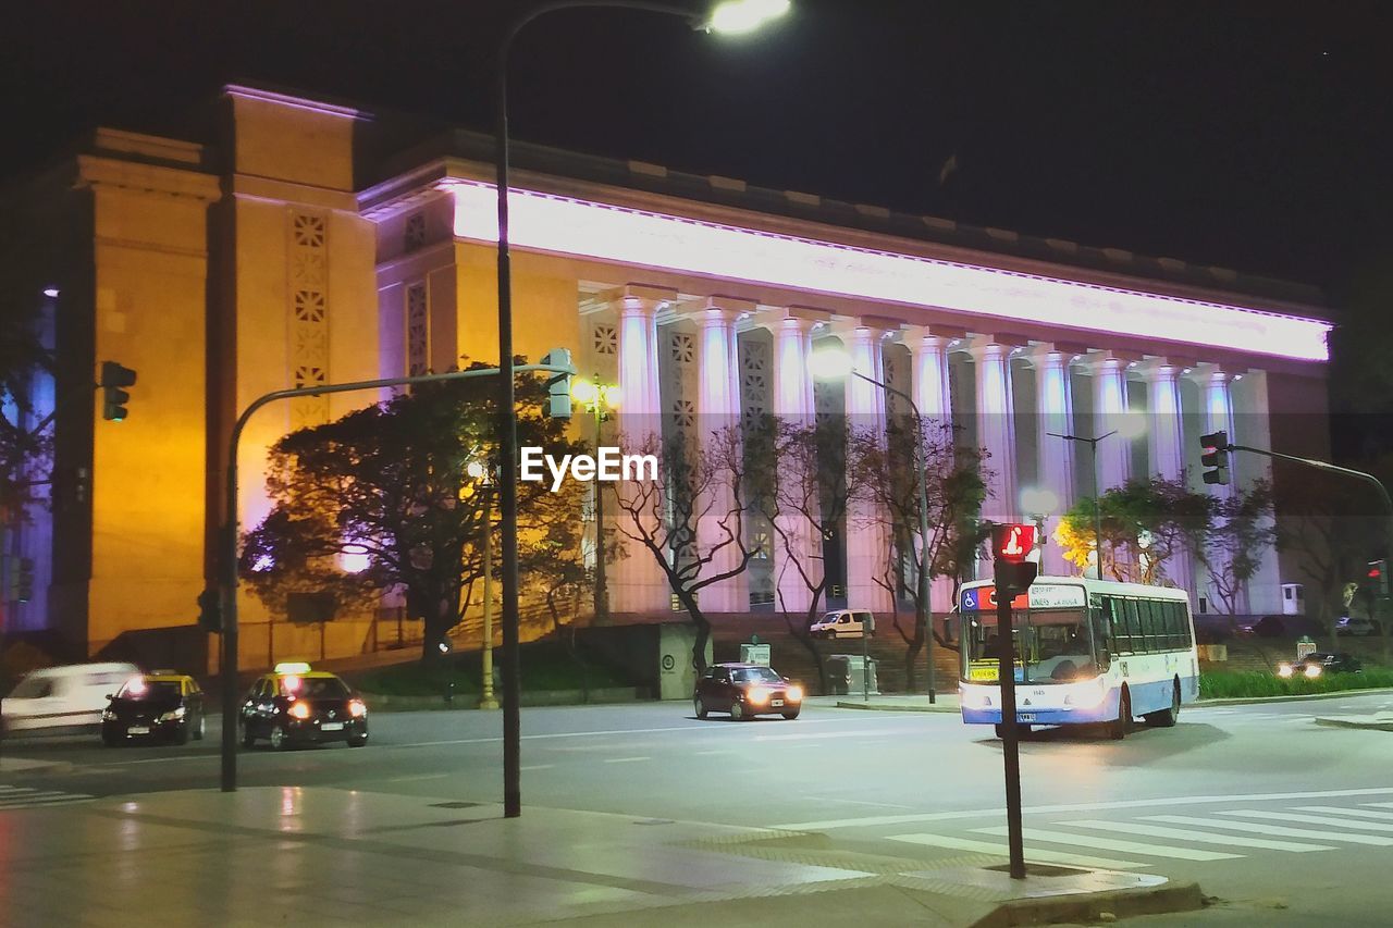
<svg viewBox="0 0 1393 928">
<path fill-rule="evenodd" d="M 242 699 L 237 719 L 242 747 L 266 738 L 276 750 L 291 744 L 368 743 L 368 706 L 348 684 L 308 663 L 279 663 Z"/>
</svg>

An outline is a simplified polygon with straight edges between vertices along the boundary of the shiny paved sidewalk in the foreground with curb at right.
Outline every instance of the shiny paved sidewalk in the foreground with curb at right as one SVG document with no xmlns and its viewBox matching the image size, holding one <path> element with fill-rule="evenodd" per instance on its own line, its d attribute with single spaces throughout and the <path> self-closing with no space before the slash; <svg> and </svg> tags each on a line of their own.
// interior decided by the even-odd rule
<svg viewBox="0 0 1393 928">
<path fill-rule="evenodd" d="M 1197 908 L 1192 883 L 823 835 L 330 787 L 189 790 L 4 814 L 0 924 L 1009 925 Z"/>
</svg>

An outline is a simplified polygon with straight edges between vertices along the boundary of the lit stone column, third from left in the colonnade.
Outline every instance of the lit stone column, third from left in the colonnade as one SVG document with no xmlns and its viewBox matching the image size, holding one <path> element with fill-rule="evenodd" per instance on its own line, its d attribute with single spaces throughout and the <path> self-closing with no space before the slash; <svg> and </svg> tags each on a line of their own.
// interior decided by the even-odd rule
<svg viewBox="0 0 1393 928">
<path fill-rule="evenodd" d="M 787 314 L 772 323 L 775 334 L 773 355 L 773 414 L 794 426 L 811 426 L 815 422 L 812 404 L 812 371 L 808 366 L 812 355 L 811 316 Z M 780 464 L 780 467 L 787 467 Z M 816 474 L 784 472 L 780 482 L 797 496 L 800 488 Z M 816 517 L 818 496 L 808 493 L 807 503 Z M 822 580 L 822 539 L 812 538 L 812 524 L 798 511 L 780 509 L 775 527 L 775 584 L 776 605 L 790 612 L 807 612 L 812 605 L 808 584 Z M 815 548 L 816 545 L 816 548 Z M 801 567 L 801 571 L 800 571 Z M 807 573 L 808 580 L 804 580 Z"/>
</svg>

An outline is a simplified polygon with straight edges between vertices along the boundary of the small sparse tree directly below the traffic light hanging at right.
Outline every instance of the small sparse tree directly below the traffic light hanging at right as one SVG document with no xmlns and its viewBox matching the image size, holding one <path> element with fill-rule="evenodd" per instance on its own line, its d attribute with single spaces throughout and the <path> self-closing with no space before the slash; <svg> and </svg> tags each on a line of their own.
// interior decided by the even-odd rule
<svg viewBox="0 0 1393 928">
<path fill-rule="evenodd" d="M 1262 567 L 1263 553 L 1277 541 L 1272 482 L 1258 479 L 1247 489 L 1233 488 L 1227 496 L 1213 500 L 1213 516 L 1198 556 L 1209 573 L 1215 599 L 1233 623 L 1243 591 Z"/>
</svg>

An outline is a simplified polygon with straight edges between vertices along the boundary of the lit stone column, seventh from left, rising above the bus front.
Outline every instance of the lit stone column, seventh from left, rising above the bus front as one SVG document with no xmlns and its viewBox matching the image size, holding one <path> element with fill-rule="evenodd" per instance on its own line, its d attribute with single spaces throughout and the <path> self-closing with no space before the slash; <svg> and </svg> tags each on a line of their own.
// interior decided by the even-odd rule
<svg viewBox="0 0 1393 928">
<path fill-rule="evenodd" d="M 1055 493 L 1059 500 L 1057 507 L 1046 520 L 1048 531 L 1053 531 L 1059 518 L 1074 504 L 1075 443 L 1055 438 L 1074 433 L 1074 392 L 1068 379 L 1070 358 L 1070 354 L 1052 344 L 1041 346 L 1031 353 L 1031 359 L 1035 362 L 1035 414 L 1039 428 L 1036 439 L 1038 482 L 1039 489 Z M 1024 514 L 1032 516 L 1034 513 Z M 1041 552 L 1041 570 L 1052 575 L 1075 573 L 1075 567 L 1064 560 L 1064 552 L 1050 539 L 1046 539 Z"/>
</svg>

